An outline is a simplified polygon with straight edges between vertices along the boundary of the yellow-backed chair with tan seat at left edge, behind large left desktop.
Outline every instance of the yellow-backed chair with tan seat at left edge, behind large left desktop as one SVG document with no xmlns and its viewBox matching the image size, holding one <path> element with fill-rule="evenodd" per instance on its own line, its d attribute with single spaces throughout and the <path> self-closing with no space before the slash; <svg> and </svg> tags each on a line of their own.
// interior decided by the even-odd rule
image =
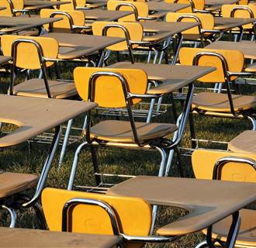
<svg viewBox="0 0 256 248">
<path fill-rule="evenodd" d="M 49 37 L 2 36 L 2 52 L 13 57 L 10 95 L 40 98 L 71 98 L 77 95 L 74 83 L 47 79 L 47 68 L 57 59 L 59 44 Z M 43 79 L 33 78 L 15 84 L 16 70 L 41 70 Z"/>
</svg>

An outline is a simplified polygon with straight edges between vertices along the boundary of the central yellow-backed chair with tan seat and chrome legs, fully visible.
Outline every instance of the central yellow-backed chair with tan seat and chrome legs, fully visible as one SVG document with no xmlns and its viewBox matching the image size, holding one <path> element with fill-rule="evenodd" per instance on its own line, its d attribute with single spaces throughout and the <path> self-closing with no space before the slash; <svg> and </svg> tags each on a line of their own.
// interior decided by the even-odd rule
<svg viewBox="0 0 256 248">
<path fill-rule="evenodd" d="M 129 120 L 106 120 L 92 126 L 91 113 L 88 113 L 86 142 L 78 146 L 75 152 L 68 189 L 71 190 L 73 187 L 78 155 L 86 145 L 92 150 L 97 185 L 101 185 L 102 181 L 99 177 L 95 146 L 157 150 L 161 153 L 158 176 L 163 176 L 166 164 L 165 149 L 175 149 L 178 145 L 177 140 L 181 140 L 181 137 L 175 138 L 174 141 L 164 139 L 164 136 L 178 129 L 175 124 L 134 121 L 132 105 L 141 102 L 143 98 L 161 97 L 146 95 L 147 74 L 140 69 L 77 67 L 74 69 L 74 84 L 83 100 L 97 102 L 102 108 L 126 108 Z M 182 133 L 180 130 L 178 136 L 182 136 Z"/>
</svg>

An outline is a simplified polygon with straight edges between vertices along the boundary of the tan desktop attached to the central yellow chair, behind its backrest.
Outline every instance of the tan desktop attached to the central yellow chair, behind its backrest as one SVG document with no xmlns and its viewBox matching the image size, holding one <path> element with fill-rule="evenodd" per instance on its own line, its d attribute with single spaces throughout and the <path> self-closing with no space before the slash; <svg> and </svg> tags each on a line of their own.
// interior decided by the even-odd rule
<svg viewBox="0 0 256 248">
<path fill-rule="evenodd" d="M 214 67 L 179 66 L 169 64 L 131 64 L 119 62 L 109 67 L 137 68 L 146 71 L 149 80 L 161 81 L 162 84 L 150 88 L 148 94 L 168 94 L 182 88 L 199 77 L 214 71 Z"/>
</svg>

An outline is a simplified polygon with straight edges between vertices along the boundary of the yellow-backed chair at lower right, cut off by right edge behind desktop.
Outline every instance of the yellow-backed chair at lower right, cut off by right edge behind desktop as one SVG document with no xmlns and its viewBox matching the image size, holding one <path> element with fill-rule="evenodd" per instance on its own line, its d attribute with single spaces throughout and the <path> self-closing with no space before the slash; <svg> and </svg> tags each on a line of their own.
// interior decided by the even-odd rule
<svg viewBox="0 0 256 248">
<path fill-rule="evenodd" d="M 254 153 L 234 153 L 220 150 L 198 149 L 192 153 L 192 167 L 198 179 L 215 179 L 226 181 L 256 182 L 256 155 Z M 228 202 L 227 202 L 228 203 Z M 235 247 L 252 248 L 256 246 L 255 223 L 256 211 L 241 209 L 241 226 Z M 214 241 L 224 245 L 227 242 L 227 229 L 232 218 L 223 219 L 213 225 Z M 208 247 L 206 241 L 199 243 L 196 248 Z"/>
</svg>

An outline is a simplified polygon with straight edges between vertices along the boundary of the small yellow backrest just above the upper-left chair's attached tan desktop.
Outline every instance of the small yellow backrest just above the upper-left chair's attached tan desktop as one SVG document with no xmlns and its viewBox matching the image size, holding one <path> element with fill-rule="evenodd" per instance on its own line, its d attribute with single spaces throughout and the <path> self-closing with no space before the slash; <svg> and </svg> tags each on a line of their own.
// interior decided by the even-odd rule
<svg viewBox="0 0 256 248">
<path fill-rule="evenodd" d="M 52 24 L 53 32 L 71 33 L 73 26 L 85 26 L 85 13 L 80 10 L 56 10 L 42 9 L 40 11 L 41 18 L 61 17 L 62 20 Z M 44 28 L 49 30 L 49 24 Z"/>
</svg>

